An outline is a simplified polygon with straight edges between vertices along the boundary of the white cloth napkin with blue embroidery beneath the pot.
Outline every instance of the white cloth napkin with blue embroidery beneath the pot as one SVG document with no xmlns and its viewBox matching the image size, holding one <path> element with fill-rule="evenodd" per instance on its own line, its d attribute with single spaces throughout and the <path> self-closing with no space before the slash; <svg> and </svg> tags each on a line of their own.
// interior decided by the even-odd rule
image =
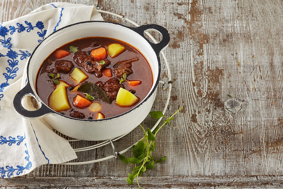
<svg viewBox="0 0 283 189">
<path fill-rule="evenodd" d="M 38 43 L 59 28 L 87 20 L 103 20 L 95 6 L 49 3 L 0 24 L 1 178 L 27 174 L 42 164 L 58 164 L 77 158 L 68 141 L 55 134 L 44 119 L 22 118 L 12 102 L 25 86 L 25 65 Z M 31 107 L 30 100 L 25 102 L 29 102 L 26 107 Z"/>
</svg>

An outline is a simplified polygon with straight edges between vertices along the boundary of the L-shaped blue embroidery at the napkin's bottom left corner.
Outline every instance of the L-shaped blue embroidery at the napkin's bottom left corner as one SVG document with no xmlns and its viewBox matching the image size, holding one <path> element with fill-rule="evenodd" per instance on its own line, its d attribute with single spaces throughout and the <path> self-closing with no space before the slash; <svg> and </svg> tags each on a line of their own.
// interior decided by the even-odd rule
<svg viewBox="0 0 283 189">
<path fill-rule="evenodd" d="M 25 143 L 25 147 L 27 148 L 27 143 Z M 27 154 L 27 156 L 25 157 L 25 160 L 27 160 L 27 165 L 25 167 L 17 165 L 17 168 L 13 168 L 13 166 L 6 166 L 7 170 L 5 170 L 4 167 L 0 167 L 0 174 L 2 179 L 6 177 L 6 174 L 7 177 L 10 178 L 13 175 L 14 171 L 16 170 L 17 170 L 16 175 L 20 175 L 20 173 L 22 173 L 23 170 L 25 169 L 29 170 L 31 168 L 32 163 L 29 160 L 29 152 L 27 151 L 27 149 L 25 150 L 25 153 Z"/>
</svg>

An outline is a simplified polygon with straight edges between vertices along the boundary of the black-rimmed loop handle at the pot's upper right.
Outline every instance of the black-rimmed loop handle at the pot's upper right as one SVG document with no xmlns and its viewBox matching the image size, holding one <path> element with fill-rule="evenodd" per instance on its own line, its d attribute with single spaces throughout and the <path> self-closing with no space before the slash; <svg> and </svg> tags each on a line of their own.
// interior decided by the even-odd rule
<svg viewBox="0 0 283 189">
<path fill-rule="evenodd" d="M 153 50 L 155 51 L 155 53 L 157 55 L 159 55 L 160 51 L 162 51 L 169 44 L 170 34 L 167 31 L 167 29 L 165 29 L 164 27 L 162 27 L 160 25 L 145 24 L 145 25 L 141 25 L 139 27 L 132 27 L 132 30 L 134 30 L 135 32 L 140 34 L 143 38 L 145 38 L 145 40 L 147 40 L 147 42 L 149 42 L 149 44 L 151 45 L 151 47 L 153 48 Z M 157 44 L 150 42 L 144 35 L 144 32 L 147 32 L 147 31 L 157 31 L 157 32 L 159 32 L 162 35 L 162 40 Z"/>
</svg>

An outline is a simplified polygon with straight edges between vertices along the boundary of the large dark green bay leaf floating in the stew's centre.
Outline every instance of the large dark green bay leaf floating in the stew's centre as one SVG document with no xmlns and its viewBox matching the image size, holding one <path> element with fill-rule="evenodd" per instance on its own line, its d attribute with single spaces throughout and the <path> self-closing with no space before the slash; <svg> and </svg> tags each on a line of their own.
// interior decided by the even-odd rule
<svg viewBox="0 0 283 189">
<path fill-rule="evenodd" d="M 102 88 L 97 86 L 95 83 L 85 81 L 83 82 L 83 84 L 80 85 L 77 91 L 87 93 L 91 95 L 94 99 L 102 99 L 104 102 L 111 104 L 108 95 L 104 92 L 104 90 L 102 90 Z"/>
</svg>

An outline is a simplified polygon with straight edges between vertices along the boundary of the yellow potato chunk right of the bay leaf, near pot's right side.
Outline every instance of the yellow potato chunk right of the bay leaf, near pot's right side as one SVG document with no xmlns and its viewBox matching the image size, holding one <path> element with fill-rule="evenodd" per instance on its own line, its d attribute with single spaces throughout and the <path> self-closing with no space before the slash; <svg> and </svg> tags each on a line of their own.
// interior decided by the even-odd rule
<svg viewBox="0 0 283 189">
<path fill-rule="evenodd" d="M 138 98 L 127 91 L 126 89 L 120 88 L 116 98 L 116 104 L 121 107 L 129 107 L 136 103 Z"/>
</svg>

